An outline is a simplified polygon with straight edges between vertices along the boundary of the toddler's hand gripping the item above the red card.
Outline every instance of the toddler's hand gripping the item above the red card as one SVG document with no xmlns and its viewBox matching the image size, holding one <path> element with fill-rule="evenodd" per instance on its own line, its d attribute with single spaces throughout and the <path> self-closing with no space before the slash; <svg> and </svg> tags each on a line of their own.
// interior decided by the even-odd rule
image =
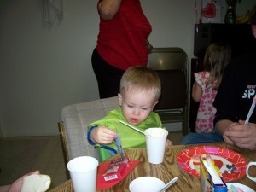
<svg viewBox="0 0 256 192">
<path fill-rule="evenodd" d="M 112 143 L 115 137 L 116 132 L 103 125 L 99 125 L 90 132 L 90 139 L 100 144 Z"/>
</svg>

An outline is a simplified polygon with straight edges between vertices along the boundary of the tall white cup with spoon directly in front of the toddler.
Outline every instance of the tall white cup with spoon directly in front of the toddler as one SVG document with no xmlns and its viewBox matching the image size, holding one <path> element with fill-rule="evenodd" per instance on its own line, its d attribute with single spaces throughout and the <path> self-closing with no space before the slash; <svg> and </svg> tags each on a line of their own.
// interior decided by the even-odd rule
<svg viewBox="0 0 256 192">
<path fill-rule="evenodd" d="M 145 132 L 150 135 L 150 137 L 146 136 L 148 162 L 152 164 L 162 163 L 165 156 L 168 131 L 162 128 L 148 128 Z"/>
</svg>

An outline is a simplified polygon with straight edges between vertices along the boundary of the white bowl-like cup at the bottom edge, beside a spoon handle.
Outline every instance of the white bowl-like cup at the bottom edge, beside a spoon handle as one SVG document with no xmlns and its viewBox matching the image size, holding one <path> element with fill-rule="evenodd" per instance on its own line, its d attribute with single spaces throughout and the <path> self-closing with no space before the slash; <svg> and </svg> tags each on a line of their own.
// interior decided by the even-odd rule
<svg viewBox="0 0 256 192">
<path fill-rule="evenodd" d="M 165 183 L 156 177 L 138 177 L 129 185 L 131 192 L 156 192 L 164 187 Z"/>
</svg>

